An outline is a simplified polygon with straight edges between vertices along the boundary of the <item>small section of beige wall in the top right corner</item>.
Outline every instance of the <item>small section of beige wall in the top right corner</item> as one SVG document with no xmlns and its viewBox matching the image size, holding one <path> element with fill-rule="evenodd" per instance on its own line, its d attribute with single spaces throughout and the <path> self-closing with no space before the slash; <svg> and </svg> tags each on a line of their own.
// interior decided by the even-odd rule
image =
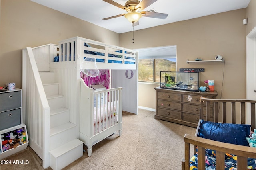
<svg viewBox="0 0 256 170">
<path fill-rule="evenodd" d="M 247 7 L 247 34 L 256 27 L 256 0 L 251 0 Z"/>
</svg>

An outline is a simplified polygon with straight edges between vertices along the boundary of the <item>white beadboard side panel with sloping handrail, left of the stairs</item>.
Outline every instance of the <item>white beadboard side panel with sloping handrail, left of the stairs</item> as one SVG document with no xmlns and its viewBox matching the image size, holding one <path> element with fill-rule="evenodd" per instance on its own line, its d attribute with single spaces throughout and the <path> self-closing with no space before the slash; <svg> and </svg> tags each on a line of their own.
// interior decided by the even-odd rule
<svg viewBox="0 0 256 170">
<path fill-rule="evenodd" d="M 43 160 L 43 167 L 50 166 L 50 107 L 32 48 L 22 50 L 23 113 L 28 131 L 29 145 Z"/>
</svg>

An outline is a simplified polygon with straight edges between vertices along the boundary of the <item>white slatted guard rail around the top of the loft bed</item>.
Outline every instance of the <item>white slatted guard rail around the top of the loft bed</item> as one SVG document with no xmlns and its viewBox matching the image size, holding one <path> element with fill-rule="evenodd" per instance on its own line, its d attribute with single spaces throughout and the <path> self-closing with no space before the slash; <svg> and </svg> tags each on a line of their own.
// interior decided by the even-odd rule
<svg viewBox="0 0 256 170">
<path fill-rule="evenodd" d="M 59 46 L 59 62 L 78 61 L 81 69 L 95 69 L 92 61 L 84 61 L 86 58 L 96 60 L 98 69 L 136 69 L 137 52 L 130 49 L 82 37 L 60 41 Z"/>
</svg>

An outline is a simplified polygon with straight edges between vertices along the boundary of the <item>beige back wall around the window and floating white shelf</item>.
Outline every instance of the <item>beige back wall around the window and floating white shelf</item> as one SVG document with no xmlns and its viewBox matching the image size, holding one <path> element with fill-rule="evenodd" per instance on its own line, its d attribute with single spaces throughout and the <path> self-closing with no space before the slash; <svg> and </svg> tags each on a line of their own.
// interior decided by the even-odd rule
<svg viewBox="0 0 256 170">
<path fill-rule="evenodd" d="M 122 33 L 120 46 L 137 49 L 177 45 L 178 70 L 205 68 L 205 72 L 200 73 L 200 85 L 204 86 L 204 80 L 215 80 L 217 98 L 221 97 L 221 92 L 221 98 L 246 98 L 246 25 L 242 22 L 244 18 L 246 8 L 139 30 L 134 32 L 134 44 L 132 32 Z M 224 57 L 225 65 L 220 62 L 186 64 L 188 59 L 214 60 L 216 55 Z M 146 87 L 140 87 L 143 92 L 139 93 L 144 93 L 144 89 Z M 152 96 L 139 95 L 139 101 L 151 103 L 151 100 L 155 100 L 154 88 L 150 90 L 149 94 Z"/>
</svg>

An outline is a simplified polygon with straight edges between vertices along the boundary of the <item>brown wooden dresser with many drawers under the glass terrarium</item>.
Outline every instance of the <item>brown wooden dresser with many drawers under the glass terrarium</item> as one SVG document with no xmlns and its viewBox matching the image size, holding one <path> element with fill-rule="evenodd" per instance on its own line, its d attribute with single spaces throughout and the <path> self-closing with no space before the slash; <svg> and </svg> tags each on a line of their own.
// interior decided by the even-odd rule
<svg viewBox="0 0 256 170">
<path fill-rule="evenodd" d="M 218 93 L 194 92 L 185 90 L 172 90 L 155 88 L 156 90 L 156 115 L 155 119 L 170 121 L 197 127 L 199 120 L 200 98 L 216 98 Z M 204 107 L 203 109 L 206 109 Z M 211 108 L 213 115 L 213 108 Z M 206 111 L 204 111 L 206 113 Z"/>
</svg>

